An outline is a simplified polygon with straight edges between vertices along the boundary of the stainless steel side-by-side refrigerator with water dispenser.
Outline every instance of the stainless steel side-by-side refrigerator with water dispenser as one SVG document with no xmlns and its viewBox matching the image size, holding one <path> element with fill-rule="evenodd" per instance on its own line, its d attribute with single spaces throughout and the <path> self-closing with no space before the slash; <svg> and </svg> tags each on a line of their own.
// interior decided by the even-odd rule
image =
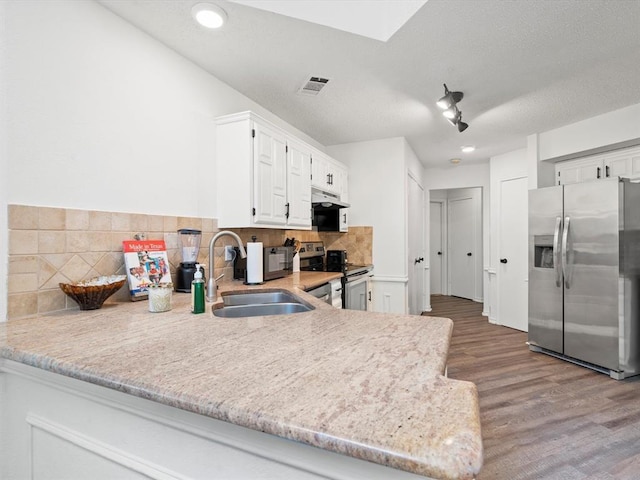
<svg viewBox="0 0 640 480">
<path fill-rule="evenodd" d="M 640 373 L 640 184 L 529 191 L 529 348 Z"/>
</svg>

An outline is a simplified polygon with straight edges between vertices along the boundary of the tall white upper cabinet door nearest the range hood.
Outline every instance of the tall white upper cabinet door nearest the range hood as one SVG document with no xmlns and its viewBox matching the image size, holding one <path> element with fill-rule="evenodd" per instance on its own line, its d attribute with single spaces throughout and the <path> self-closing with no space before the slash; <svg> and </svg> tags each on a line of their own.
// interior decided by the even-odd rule
<svg viewBox="0 0 640 480">
<path fill-rule="evenodd" d="M 311 227 L 311 151 L 287 143 L 287 225 Z"/>
</svg>

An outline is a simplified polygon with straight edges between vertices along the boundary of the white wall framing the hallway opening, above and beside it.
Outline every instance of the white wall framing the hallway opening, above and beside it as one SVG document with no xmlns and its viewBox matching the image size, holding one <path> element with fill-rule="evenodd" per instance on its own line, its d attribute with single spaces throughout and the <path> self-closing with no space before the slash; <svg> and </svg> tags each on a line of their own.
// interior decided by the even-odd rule
<svg viewBox="0 0 640 480">
<path fill-rule="evenodd" d="M 483 298 L 483 314 L 488 315 L 489 308 L 489 262 L 490 262 L 490 179 L 489 179 L 489 163 L 474 165 L 455 165 L 448 168 L 427 168 L 424 171 L 425 191 L 427 192 L 427 205 L 430 201 L 431 190 L 451 190 L 468 187 L 482 188 L 482 259 L 483 259 L 483 280 L 482 280 L 482 298 Z M 429 209 L 426 211 L 427 217 Z M 429 219 L 427 218 L 427 225 Z M 430 252 L 429 236 L 426 238 L 426 251 Z M 428 255 L 425 258 L 429 258 Z M 431 291 L 431 281 L 429 275 L 426 276 L 427 292 Z M 427 306 L 429 309 L 431 305 Z"/>
</svg>

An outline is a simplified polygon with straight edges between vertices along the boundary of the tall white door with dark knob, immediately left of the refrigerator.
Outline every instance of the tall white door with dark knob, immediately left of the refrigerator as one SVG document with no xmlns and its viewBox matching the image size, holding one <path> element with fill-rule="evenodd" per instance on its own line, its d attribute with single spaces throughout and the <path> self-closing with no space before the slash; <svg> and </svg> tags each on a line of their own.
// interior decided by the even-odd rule
<svg viewBox="0 0 640 480">
<path fill-rule="evenodd" d="M 498 322 L 528 331 L 528 180 L 500 182 Z"/>
</svg>

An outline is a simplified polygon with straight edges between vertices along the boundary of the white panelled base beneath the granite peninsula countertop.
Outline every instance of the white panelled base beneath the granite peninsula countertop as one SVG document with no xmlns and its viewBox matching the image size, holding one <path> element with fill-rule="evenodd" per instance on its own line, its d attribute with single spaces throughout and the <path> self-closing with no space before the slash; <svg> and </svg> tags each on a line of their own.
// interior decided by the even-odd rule
<svg viewBox="0 0 640 480">
<path fill-rule="evenodd" d="M 0 359 L 0 478 L 424 479 Z"/>
</svg>

